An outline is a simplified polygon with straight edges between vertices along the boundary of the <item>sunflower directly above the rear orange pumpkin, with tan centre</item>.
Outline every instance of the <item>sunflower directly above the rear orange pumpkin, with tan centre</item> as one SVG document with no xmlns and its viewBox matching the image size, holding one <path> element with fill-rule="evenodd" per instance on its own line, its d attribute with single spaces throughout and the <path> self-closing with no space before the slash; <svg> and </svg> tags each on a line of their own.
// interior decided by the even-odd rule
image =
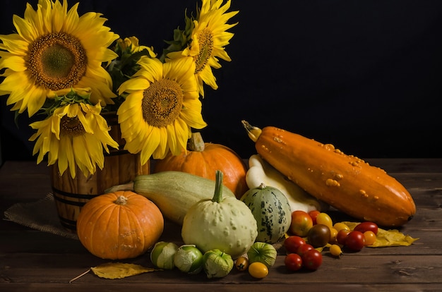
<svg viewBox="0 0 442 292">
<path fill-rule="evenodd" d="M 117 111 L 124 148 L 141 153 L 141 164 L 151 156 L 162 159 L 169 150 L 177 155 L 186 149 L 191 128 L 206 125 L 201 116 L 201 101 L 193 58 L 162 63 L 157 58 L 141 57 L 140 70 L 119 87 L 127 92 Z"/>
</svg>

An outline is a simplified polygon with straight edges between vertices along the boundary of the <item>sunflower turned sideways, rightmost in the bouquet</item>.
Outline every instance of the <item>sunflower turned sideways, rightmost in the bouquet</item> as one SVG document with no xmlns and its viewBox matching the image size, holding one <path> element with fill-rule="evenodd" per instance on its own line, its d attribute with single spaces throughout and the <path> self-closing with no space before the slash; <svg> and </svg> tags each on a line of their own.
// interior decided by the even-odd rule
<svg viewBox="0 0 442 292">
<path fill-rule="evenodd" d="M 198 11 L 196 20 L 193 20 L 194 28 L 191 32 L 191 43 L 183 51 L 172 52 L 167 55 L 168 59 L 177 59 L 183 56 L 192 56 L 196 62 L 195 74 L 198 80 L 198 92 L 204 97 L 203 83 L 214 90 L 217 89 L 215 75 L 212 68 L 221 68 L 218 58 L 231 61 L 225 51 L 233 33 L 227 32 L 237 23 L 227 24 L 227 21 L 239 11 L 227 12 L 230 8 L 230 0 L 224 5 L 224 0 L 203 0 L 201 10 Z"/>
</svg>

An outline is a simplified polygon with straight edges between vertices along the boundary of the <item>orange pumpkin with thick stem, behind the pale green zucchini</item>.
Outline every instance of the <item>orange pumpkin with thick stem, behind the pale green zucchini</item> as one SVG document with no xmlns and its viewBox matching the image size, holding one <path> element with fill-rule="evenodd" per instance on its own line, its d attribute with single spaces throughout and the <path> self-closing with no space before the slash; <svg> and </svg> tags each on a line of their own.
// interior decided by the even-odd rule
<svg viewBox="0 0 442 292">
<path fill-rule="evenodd" d="M 153 171 L 183 171 L 215 181 L 215 171 L 224 174 L 223 185 L 239 199 L 249 188 L 246 184 L 247 166 L 243 159 L 229 147 L 205 143 L 201 133 L 192 133 L 188 150 L 179 155 L 171 152 L 155 161 Z"/>
</svg>

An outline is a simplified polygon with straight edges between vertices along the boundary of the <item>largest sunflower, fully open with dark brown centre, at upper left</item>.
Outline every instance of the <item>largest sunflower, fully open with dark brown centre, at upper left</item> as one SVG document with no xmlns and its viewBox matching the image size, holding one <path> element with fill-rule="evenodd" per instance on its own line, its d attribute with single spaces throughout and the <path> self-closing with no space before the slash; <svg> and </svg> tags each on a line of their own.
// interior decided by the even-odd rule
<svg viewBox="0 0 442 292">
<path fill-rule="evenodd" d="M 78 3 L 68 11 L 67 0 L 27 4 L 24 18 L 13 16 L 18 33 L 0 35 L 0 70 L 6 76 L 0 95 L 21 114 L 35 114 L 47 97 L 70 92 L 90 93 L 93 103 L 112 104 L 112 79 L 102 63 L 117 57 L 107 49 L 119 35 L 103 24 L 100 13 L 78 16 Z"/>
</svg>

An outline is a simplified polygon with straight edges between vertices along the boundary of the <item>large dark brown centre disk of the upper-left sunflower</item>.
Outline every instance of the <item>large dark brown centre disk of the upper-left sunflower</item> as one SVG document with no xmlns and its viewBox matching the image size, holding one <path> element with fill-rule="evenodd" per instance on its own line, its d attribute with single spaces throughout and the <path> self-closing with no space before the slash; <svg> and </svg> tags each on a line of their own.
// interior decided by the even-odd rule
<svg viewBox="0 0 442 292">
<path fill-rule="evenodd" d="M 30 46 L 28 57 L 32 78 L 50 90 L 73 87 L 85 75 L 88 66 L 80 41 L 64 32 L 36 39 Z"/>
</svg>

